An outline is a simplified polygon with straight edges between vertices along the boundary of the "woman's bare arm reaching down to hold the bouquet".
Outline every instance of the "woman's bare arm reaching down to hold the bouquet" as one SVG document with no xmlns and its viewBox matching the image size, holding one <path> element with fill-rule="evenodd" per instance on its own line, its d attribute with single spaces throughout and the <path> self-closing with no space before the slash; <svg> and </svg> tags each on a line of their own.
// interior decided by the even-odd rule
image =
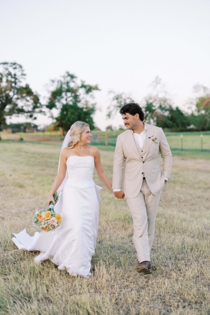
<svg viewBox="0 0 210 315">
<path fill-rule="evenodd" d="M 65 178 L 65 174 L 66 174 L 66 152 L 65 152 L 65 149 L 63 149 L 63 151 L 61 152 L 61 155 L 60 155 L 60 167 L 58 170 L 58 174 L 55 177 L 53 186 L 52 186 L 50 193 L 49 193 L 49 196 L 48 196 L 48 200 L 47 200 L 48 206 L 49 206 L 50 201 L 55 203 L 53 195 L 57 191 L 57 189 L 60 187 L 60 185 L 62 184 L 62 182 Z"/>
</svg>

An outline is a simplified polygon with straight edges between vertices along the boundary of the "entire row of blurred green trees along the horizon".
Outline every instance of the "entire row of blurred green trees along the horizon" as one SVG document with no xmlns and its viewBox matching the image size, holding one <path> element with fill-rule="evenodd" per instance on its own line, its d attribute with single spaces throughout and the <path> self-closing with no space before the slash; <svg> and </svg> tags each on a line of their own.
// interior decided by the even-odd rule
<svg viewBox="0 0 210 315">
<path fill-rule="evenodd" d="M 94 94 L 100 91 L 98 85 L 87 84 L 74 74 L 65 72 L 59 79 L 50 81 L 49 96 L 43 104 L 40 96 L 24 82 L 25 76 L 20 64 L 0 63 L 0 131 L 8 127 L 18 131 L 37 129 L 37 125 L 32 123 L 31 126 L 27 123 L 8 125 L 6 121 L 6 117 L 20 115 L 36 119 L 37 114 L 52 117 L 54 124 L 51 125 L 51 130 L 61 128 L 64 133 L 77 120 L 89 123 L 91 129 L 99 127 L 96 127 L 97 123 L 95 125 L 93 120 L 97 105 L 94 102 Z M 109 93 L 112 94 L 112 98 L 108 107 L 108 117 L 119 115 L 119 108 L 133 101 L 132 97 L 125 97 L 124 93 L 117 94 L 114 91 Z M 181 110 L 180 107 L 173 106 L 167 93 L 162 89 L 161 79 L 156 77 L 152 92 L 140 102 L 145 111 L 145 122 L 171 131 L 210 130 L 210 90 L 197 84 L 193 95 L 186 105 L 187 110 Z"/>
</svg>

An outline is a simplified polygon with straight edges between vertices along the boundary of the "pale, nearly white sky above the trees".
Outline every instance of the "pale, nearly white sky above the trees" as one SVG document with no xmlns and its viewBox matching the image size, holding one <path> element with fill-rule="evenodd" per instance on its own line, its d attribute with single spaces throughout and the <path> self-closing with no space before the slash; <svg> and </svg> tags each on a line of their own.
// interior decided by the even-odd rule
<svg viewBox="0 0 210 315">
<path fill-rule="evenodd" d="M 65 71 L 98 84 L 94 121 L 118 126 L 120 114 L 105 117 L 110 89 L 141 104 L 158 75 L 184 109 L 194 84 L 210 87 L 209 14 L 209 0 L 2 0 L 0 61 L 22 64 L 42 97 Z"/>
</svg>

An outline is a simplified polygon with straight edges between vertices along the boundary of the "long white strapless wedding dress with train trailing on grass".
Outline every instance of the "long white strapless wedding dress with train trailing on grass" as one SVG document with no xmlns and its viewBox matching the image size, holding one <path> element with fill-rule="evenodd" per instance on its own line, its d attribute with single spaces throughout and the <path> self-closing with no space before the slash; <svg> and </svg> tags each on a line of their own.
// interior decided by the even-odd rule
<svg viewBox="0 0 210 315">
<path fill-rule="evenodd" d="M 68 179 L 61 192 L 62 203 L 59 198 L 55 205 L 55 211 L 63 217 L 61 227 L 54 232 L 36 232 L 32 237 L 25 229 L 13 233 L 12 240 L 19 249 L 40 251 L 35 262 L 49 259 L 58 269 L 88 278 L 98 230 L 98 192 L 102 187 L 93 181 L 93 156 L 70 156 L 66 166 Z"/>
</svg>

